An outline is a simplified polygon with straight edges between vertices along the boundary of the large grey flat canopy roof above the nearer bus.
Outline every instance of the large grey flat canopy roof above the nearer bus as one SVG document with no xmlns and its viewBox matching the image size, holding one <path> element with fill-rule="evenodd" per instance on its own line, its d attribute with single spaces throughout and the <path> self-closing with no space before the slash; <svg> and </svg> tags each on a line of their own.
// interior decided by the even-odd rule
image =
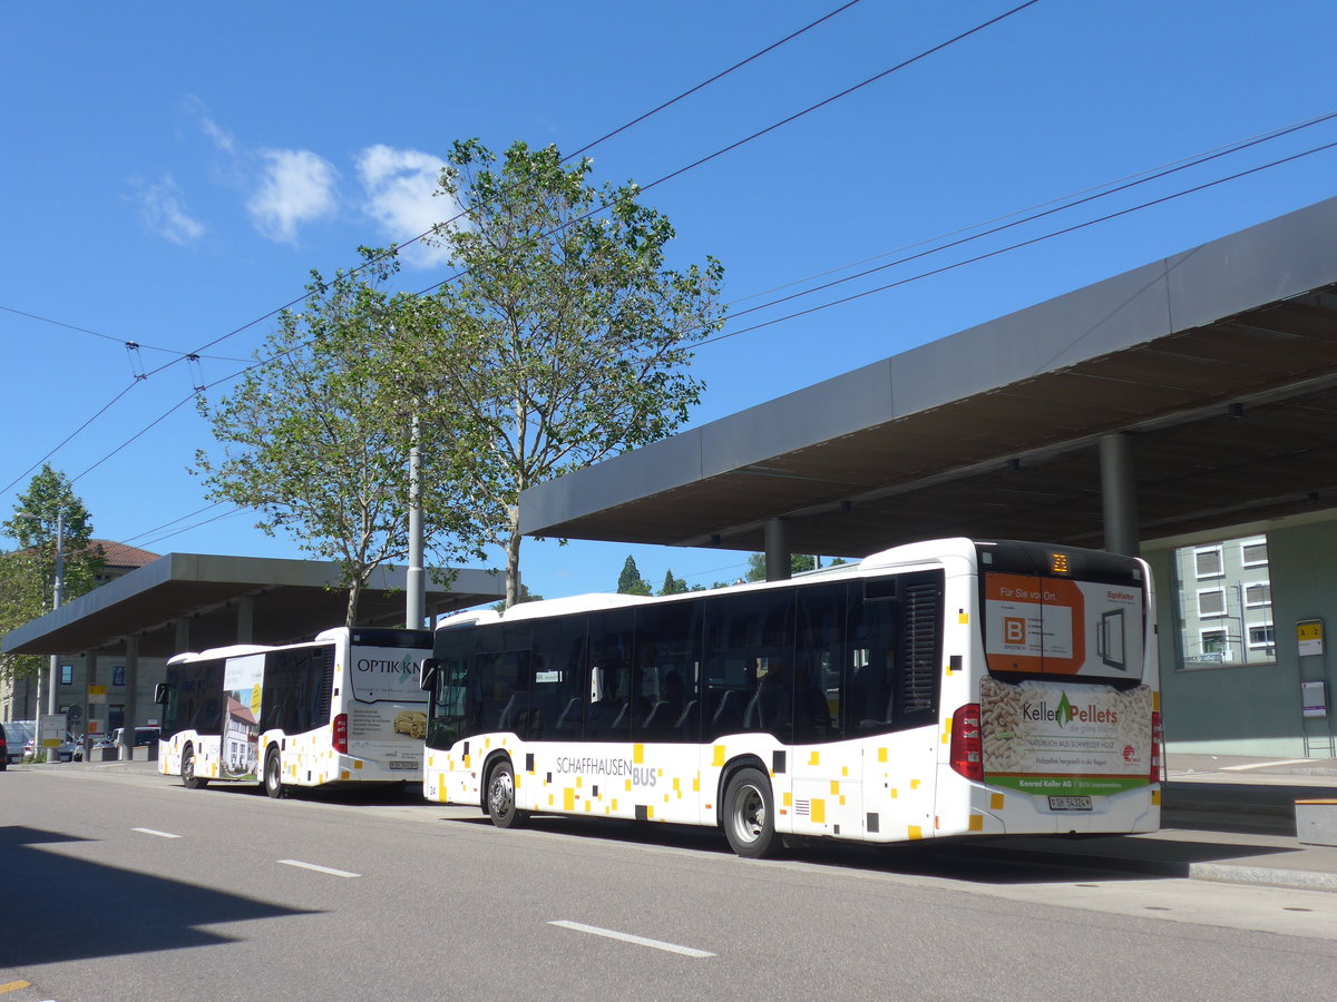
<svg viewBox="0 0 1337 1002">
<path fill-rule="evenodd" d="M 1337 505 L 1337 199 L 540 484 L 521 532 L 1100 546 L 1111 437 L 1140 538 Z"/>
</svg>

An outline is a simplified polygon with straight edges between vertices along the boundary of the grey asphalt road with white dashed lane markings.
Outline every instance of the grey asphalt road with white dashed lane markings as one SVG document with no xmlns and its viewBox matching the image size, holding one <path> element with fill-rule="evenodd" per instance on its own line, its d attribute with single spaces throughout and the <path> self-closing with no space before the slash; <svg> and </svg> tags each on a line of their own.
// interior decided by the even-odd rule
<svg viewBox="0 0 1337 1002">
<path fill-rule="evenodd" d="M 968 844 L 734 858 L 710 831 L 397 794 L 0 775 L 0 999 L 1326 995 L 1337 895 Z"/>
</svg>

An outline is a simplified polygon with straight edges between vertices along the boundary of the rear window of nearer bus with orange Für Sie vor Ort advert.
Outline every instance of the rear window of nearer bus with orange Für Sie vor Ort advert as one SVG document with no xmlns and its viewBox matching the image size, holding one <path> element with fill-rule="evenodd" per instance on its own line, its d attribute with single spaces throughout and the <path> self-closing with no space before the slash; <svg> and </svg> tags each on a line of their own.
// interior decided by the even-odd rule
<svg viewBox="0 0 1337 1002">
<path fill-rule="evenodd" d="M 989 673 L 1142 677 L 1140 587 L 999 572 L 983 585 Z"/>
</svg>

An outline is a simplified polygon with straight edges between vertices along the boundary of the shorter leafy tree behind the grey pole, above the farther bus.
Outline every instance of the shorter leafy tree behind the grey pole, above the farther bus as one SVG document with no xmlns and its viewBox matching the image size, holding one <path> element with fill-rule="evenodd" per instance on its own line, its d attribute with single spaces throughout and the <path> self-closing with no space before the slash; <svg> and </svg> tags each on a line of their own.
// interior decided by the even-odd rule
<svg viewBox="0 0 1337 1002">
<path fill-rule="evenodd" d="M 360 250 L 366 263 L 357 274 L 312 273 L 303 309 L 279 314 L 230 394 L 213 405 L 201 398 L 222 454 L 197 453 L 211 500 L 255 509 L 257 528 L 282 529 L 313 556 L 338 561 L 348 625 L 372 573 L 406 558 L 414 436 L 424 536 L 436 556 L 449 562 L 459 540 L 476 534 L 455 488 L 439 387 L 398 366 L 398 343 L 440 329 L 435 302 L 392 294 L 393 257 Z M 414 422 L 424 413 L 435 420 Z"/>
</svg>

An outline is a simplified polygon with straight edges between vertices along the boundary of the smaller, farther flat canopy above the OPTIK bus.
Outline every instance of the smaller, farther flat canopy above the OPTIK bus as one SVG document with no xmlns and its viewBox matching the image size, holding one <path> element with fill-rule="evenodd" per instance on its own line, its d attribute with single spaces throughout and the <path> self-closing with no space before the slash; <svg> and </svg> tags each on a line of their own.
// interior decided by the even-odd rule
<svg viewBox="0 0 1337 1002">
<path fill-rule="evenodd" d="M 402 625 L 405 569 L 378 570 L 358 601 L 358 625 Z M 427 581 L 429 615 L 505 597 L 505 578 L 461 569 Z M 5 653 L 124 653 L 170 657 L 187 649 L 309 640 L 344 624 L 348 592 L 337 564 L 308 560 L 168 553 L 27 623 L 4 637 Z M 178 624 L 185 623 L 182 633 Z M 249 633 L 249 636 L 246 636 Z"/>
</svg>

